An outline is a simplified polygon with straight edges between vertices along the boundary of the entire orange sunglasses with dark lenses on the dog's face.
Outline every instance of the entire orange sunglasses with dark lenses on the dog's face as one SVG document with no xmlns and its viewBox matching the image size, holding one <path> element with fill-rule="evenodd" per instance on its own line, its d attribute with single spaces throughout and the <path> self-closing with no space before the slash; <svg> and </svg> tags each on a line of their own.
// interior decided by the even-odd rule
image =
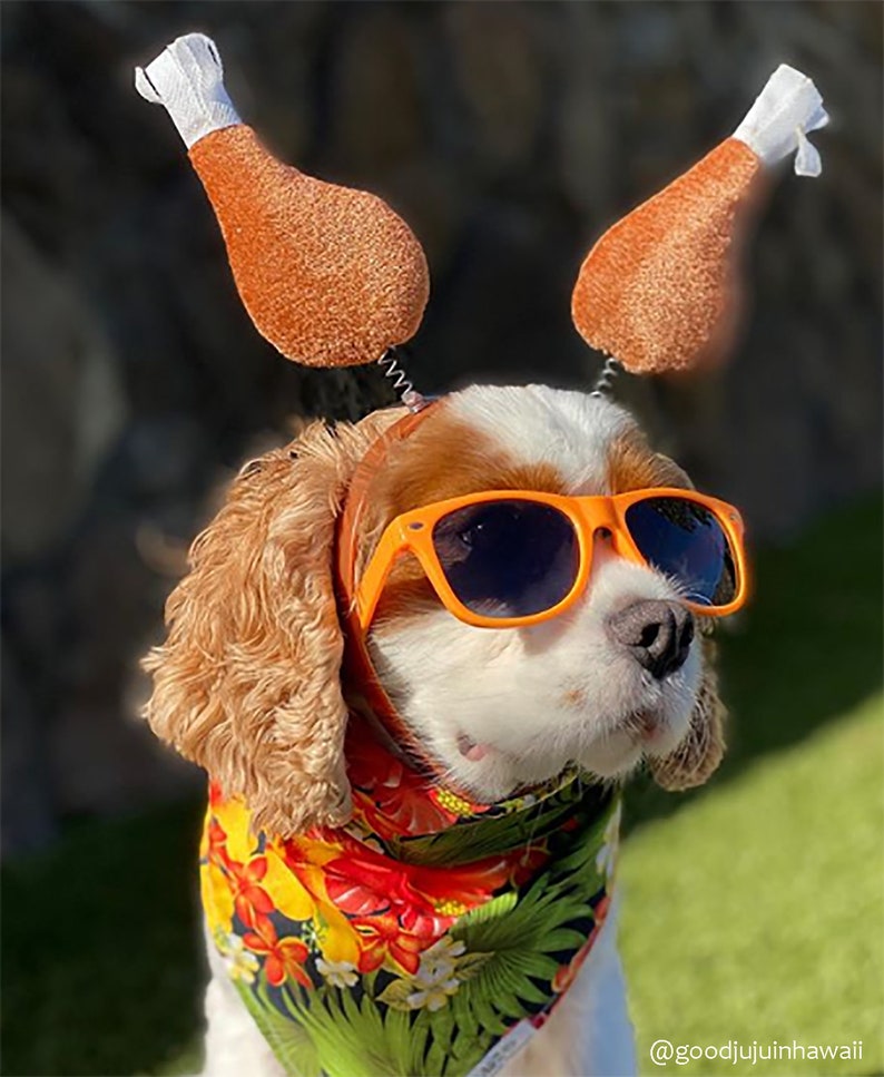
<svg viewBox="0 0 884 1077">
<path fill-rule="evenodd" d="M 393 565 L 412 554 L 468 625 L 549 620 L 582 595 L 600 530 L 620 557 L 664 572 L 697 613 L 724 617 L 746 600 L 743 520 L 726 501 L 669 487 L 613 497 L 492 490 L 397 516 L 356 588 L 356 616 L 366 630 Z"/>
</svg>

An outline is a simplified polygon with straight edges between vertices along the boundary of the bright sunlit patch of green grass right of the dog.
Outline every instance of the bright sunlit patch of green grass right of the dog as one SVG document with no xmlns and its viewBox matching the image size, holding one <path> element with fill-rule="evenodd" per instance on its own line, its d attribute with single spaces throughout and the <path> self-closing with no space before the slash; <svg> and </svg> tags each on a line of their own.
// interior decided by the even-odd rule
<svg viewBox="0 0 884 1077">
<path fill-rule="evenodd" d="M 648 1048 L 659 1038 L 861 1039 L 862 1064 L 780 1060 L 752 1073 L 884 1069 L 882 707 L 873 697 L 631 835 L 620 939 L 641 1073 L 657 1071 Z M 669 1068 L 735 1071 L 706 1059 Z"/>
</svg>

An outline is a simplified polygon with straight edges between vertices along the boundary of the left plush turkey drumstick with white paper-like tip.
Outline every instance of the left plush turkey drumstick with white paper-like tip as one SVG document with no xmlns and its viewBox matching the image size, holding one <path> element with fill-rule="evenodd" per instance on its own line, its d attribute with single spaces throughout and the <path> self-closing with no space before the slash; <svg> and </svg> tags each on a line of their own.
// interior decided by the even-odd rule
<svg viewBox="0 0 884 1077">
<path fill-rule="evenodd" d="M 287 359 L 348 366 L 410 340 L 426 260 L 380 198 L 276 160 L 239 119 L 214 42 L 178 38 L 136 87 L 171 116 L 206 188 L 234 280 L 258 331 Z"/>
</svg>

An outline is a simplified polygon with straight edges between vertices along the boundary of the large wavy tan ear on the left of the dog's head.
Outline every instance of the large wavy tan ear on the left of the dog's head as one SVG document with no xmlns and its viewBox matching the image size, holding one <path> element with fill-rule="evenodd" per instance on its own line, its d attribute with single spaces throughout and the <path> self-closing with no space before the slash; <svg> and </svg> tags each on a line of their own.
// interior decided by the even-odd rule
<svg viewBox="0 0 884 1077">
<path fill-rule="evenodd" d="M 151 728 L 243 795 L 256 829 L 350 816 L 334 528 L 356 463 L 400 414 L 334 433 L 313 423 L 244 468 L 190 549 L 166 643 L 144 659 Z"/>
</svg>

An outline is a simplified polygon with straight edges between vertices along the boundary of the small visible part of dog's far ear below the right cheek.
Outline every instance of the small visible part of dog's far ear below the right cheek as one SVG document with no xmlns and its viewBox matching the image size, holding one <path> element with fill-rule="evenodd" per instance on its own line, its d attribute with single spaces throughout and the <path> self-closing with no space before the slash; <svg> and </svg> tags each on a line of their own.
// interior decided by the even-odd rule
<svg viewBox="0 0 884 1077">
<path fill-rule="evenodd" d="M 703 785 L 716 772 L 725 754 L 727 711 L 718 697 L 715 644 L 708 636 L 703 638 L 703 650 L 704 675 L 688 734 L 670 755 L 650 761 L 654 780 L 670 792 Z"/>
</svg>

